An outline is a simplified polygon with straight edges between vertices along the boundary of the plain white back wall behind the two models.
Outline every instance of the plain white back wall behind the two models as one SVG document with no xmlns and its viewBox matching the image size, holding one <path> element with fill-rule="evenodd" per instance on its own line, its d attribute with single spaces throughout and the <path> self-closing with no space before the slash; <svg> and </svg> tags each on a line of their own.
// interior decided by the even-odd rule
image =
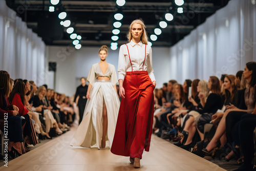
<svg viewBox="0 0 256 171">
<path fill-rule="evenodd" d="M 72 96 L 79 85 L 80 77 L 87 77 L 91 66 L 99 62 L 99 47 L 82 47 L 79 50 L 70 47 L 47 46 L 47 62 L 57 62 L 56 70 L 56 91 Z M 152 47 L 153 69 L 157 80 L 157 88 L 162 87 L 162 83 L 167 82 L 170 76 L 170 54 L 169 48 Z M 106 61 L 116 67 L 118 66 L 118 53 L 109 50 Z M 48 63 L 46 63 L 48 65 Z M 53 73 L 46 72 L 46 83 L 49 88 L 54 88 Z"/>
</svg>

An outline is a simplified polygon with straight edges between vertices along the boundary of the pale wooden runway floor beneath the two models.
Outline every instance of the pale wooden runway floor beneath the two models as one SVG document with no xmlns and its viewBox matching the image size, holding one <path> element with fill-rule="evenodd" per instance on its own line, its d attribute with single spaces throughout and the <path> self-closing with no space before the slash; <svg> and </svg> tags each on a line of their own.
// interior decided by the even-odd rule
<svg viewBox="0 0 256 171">
<path fill-rule="evenodd" d="M 134 168 L 129 157 L 116 156 L 103 149 L 70 146 L 77 127 L 10 161 L 0 170 L 225 170 L 157 136 L 152 136 L 150 152 L 144 152 L 141 168 Z"/>
</svg>

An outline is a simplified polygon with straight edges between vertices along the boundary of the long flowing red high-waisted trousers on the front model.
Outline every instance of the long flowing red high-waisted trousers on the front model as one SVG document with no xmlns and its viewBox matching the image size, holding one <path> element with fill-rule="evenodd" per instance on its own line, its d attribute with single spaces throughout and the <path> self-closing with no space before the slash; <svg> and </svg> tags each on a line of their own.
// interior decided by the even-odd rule
<svg viewBox="0 0 256 171">
<path fill-rule="evenodd" d="M 155 86 L 147 71 L 131 71 L 126 72 L 123 88 L 111 152 L 141 159 L 144 149 L 150 151 Z"/>
</svg>

